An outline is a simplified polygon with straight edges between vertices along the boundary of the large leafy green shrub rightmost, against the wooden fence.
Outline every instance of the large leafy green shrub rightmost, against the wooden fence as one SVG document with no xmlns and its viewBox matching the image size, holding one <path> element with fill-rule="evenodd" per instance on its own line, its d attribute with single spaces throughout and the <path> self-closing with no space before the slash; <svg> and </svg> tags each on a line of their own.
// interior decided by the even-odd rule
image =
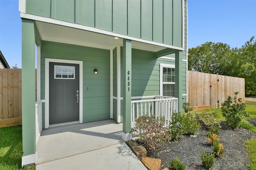
<svg viewBox="0 0 256 170">
<path fill-rule="evenodd" d="M 248 116 L 245 111 L 246 105 L 242 102 L 242 98 L 237 98 L 238 94 L 239 92 L 234 92 L 234 98 L 228 96 L 227 100 L 221 104 L 222 115 L 233 129 L 238 127 L 243 117 Z"/>
</svg>

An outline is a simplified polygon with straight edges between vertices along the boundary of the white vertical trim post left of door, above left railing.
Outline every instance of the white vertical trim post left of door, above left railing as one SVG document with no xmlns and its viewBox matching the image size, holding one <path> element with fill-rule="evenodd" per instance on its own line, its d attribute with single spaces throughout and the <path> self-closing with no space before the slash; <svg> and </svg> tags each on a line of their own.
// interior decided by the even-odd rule
<svg viewBox="0 0 256 170">
<path fill-rule="evenodd" d="M 39 101 L 41 99 L 41 46 L 37 46 L 36 68 L 36 101 Z"/>
</svg>

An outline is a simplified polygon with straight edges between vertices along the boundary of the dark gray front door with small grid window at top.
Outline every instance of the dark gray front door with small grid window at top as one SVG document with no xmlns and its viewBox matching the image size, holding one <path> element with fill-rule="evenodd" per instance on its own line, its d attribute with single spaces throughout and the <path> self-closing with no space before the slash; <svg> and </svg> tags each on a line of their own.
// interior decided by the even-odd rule
<svg viewBox="0 0 256 170">
<path fill-rule="evenodd" d="M 79 64 L 49 63 L 49 123 L 79 121 Z"/>
</svg>

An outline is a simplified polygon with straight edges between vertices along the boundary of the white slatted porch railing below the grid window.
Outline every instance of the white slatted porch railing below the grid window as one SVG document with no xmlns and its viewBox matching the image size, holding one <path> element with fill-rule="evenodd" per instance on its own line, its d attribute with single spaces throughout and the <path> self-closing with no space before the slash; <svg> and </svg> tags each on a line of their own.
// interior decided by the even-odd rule
<svg viewBox="0 0 256 170">
<path fill-rule="evenodd" d="M 169 125 L 174 111 L 178 111 L 178 98 L 155 96 L 152 100 L 134 100 L 131 111 L 132 128 L 135 127 L 135 119 L 142 115 L 165 117 L 165 125 Z"/>
</svg>

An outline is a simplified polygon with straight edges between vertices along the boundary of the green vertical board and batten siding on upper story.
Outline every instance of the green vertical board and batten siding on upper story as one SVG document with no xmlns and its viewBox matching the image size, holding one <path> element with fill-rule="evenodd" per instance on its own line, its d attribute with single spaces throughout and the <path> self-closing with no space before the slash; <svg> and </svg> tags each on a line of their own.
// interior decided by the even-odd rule
<svg viewBox="0 0 256 170">
<path fill-rule="evenodd" d="M 182 47 L 182 0 L 26 0 L 26 14 Z"/>
</svg>

